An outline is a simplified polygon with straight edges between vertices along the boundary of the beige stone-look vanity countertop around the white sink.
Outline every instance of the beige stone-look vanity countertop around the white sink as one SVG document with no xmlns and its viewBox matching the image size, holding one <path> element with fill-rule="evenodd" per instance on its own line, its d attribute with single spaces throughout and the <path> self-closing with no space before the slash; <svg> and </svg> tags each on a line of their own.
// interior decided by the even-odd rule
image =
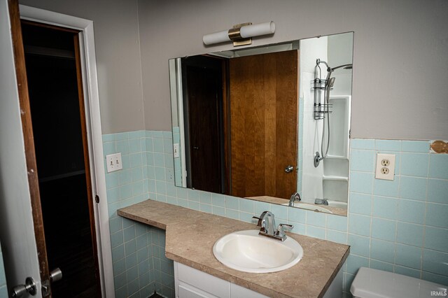
<svg viewBox="0 0 448 298">
<path fill-rule="evenodd" d="M 269 297 L 323 297 L 349 255 L 349 246 L 288 233 L 303 248 L 300 262 L 284 271 L 246 273 L 225 267 L 212 249 L 226 234 L 258 229 L 254 224 L 153 200 L 121 208 L 118 215 L 165 229 L 167 258 Z"/>
</svg>

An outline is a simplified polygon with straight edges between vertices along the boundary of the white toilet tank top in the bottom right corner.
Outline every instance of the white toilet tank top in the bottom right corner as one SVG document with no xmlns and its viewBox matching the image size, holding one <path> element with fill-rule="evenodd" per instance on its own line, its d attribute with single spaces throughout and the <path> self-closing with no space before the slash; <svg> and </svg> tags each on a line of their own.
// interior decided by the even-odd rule
<svg viewBox="0 0 448 298">
<path fill-rule="evenodd" d="M 359 298 L 447 297 L 447 286 L 419 278 L 361 267 L 350 292 Z"/>
</svg>

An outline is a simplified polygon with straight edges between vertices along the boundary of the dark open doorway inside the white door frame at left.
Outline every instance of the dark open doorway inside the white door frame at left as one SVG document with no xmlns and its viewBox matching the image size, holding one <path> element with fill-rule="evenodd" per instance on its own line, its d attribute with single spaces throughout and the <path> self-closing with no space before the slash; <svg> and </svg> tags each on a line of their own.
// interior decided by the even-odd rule
<svg viewBox="0 0 448 298">
<path fill-rule="evenodd" d="M 101 297 L 78 34 L 22 21 L 52 297 Z"/>
</svg>

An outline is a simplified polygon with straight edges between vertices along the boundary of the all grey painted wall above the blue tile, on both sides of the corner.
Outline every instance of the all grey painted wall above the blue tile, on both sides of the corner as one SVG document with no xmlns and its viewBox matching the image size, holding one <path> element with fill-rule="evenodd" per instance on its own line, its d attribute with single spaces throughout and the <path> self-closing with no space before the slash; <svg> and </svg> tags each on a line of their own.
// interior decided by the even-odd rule
<svg viewBox="0 0 448 298">
<path fill-rule="evenodd" d="M 253 45 L 355 32 L 352 137 L 448 139 L 446 0 L 20 3 L 94 21 L 104 134 L 171 129 L 168 59 L 230 50 L 202 36 L 273 20 L 274 36 Z"/>
</svg>

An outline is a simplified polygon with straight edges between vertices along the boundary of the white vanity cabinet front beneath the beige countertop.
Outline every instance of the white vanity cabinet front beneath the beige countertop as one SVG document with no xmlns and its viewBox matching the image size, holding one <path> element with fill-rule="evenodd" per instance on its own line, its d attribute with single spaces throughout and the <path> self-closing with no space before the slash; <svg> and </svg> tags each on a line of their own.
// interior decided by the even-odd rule
<svg viewBox="0 0 448 298">
<path fill-rule="evenodd" d="M 174 262 L 174 282 L 176 298 L 267 298 L 178 262 Z"/>
</svg>

